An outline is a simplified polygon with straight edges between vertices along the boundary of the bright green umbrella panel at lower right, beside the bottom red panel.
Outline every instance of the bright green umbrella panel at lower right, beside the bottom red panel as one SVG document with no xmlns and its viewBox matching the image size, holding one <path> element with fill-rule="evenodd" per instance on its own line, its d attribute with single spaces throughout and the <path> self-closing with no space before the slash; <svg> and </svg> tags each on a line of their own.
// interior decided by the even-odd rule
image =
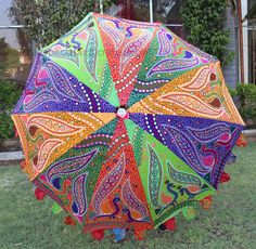
<svg viewBox="0 0 256 249">
<path fill-rule="evenodd" d="M 176 215 L 182 207 L 215 193 L 185 162 L 131 120 L 126 120 L 141 182 L 154 225 Z"/>
</svg>

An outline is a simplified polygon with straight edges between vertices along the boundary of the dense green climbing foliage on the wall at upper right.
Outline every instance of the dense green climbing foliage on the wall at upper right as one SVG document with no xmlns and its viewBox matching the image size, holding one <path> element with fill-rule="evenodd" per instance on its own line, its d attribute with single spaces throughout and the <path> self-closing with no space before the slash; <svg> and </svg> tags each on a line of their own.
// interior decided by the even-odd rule
<svg viewBox="0 0 256 249">
<path fill-rule="evenodd" d="M 227 1 L 184 0 L 181 17 L 187 40 L 227 65 L 233 53 L 228 51 L 229 31 L 225 28 Z"/>
</svg>

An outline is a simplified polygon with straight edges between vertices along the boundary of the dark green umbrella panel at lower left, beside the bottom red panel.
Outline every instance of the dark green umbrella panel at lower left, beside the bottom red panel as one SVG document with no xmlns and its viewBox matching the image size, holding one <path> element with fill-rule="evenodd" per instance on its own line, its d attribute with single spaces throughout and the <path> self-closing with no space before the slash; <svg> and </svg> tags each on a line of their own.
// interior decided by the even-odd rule
<svg viewBox="0 0 256 249">
<path fill-rule="evenodd" d="M 111 140 L 115 126 L 113 120 L 89 135 L 33 181 L 78 222 L 87 214 L 97 175 L 108 148 L 105 142 Z"/>
</svg>

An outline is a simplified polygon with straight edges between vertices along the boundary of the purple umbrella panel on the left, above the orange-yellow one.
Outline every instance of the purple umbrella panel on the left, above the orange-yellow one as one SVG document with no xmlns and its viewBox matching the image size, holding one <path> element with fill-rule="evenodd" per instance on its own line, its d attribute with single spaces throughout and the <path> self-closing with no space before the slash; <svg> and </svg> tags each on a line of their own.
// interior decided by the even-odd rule
<svg viewBox="0 0 256 249">
<path fill-rule="evenodd" d="M 67 70 L 38 53 L 13 113 L 41 112 L 114 113 L 115 107 Z"/>
</svg>

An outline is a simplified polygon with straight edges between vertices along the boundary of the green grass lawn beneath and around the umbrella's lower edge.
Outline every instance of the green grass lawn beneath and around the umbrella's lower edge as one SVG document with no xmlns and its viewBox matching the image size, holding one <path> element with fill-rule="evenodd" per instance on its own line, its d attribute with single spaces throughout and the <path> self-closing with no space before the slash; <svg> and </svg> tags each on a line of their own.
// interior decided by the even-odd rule
<svg viewBox="0 0 256 249">
<path fill-rule="evenodd" d="M 174 233 L 150 231 L 143 241 L 113 243 L 84 235 L 80 226 L 63 224 L 65 213 L 51 212 L 52 201 L 37 201 L 33 186 L 16 166 L 0 167 L 0 248 L 256 248 L 256 143 L 235 148 L 235 165 L 228 166 L 228 184 L 221 184 L 210 210 L 199 210 L 188 222 L 177 218 Z"/>
</svg>

